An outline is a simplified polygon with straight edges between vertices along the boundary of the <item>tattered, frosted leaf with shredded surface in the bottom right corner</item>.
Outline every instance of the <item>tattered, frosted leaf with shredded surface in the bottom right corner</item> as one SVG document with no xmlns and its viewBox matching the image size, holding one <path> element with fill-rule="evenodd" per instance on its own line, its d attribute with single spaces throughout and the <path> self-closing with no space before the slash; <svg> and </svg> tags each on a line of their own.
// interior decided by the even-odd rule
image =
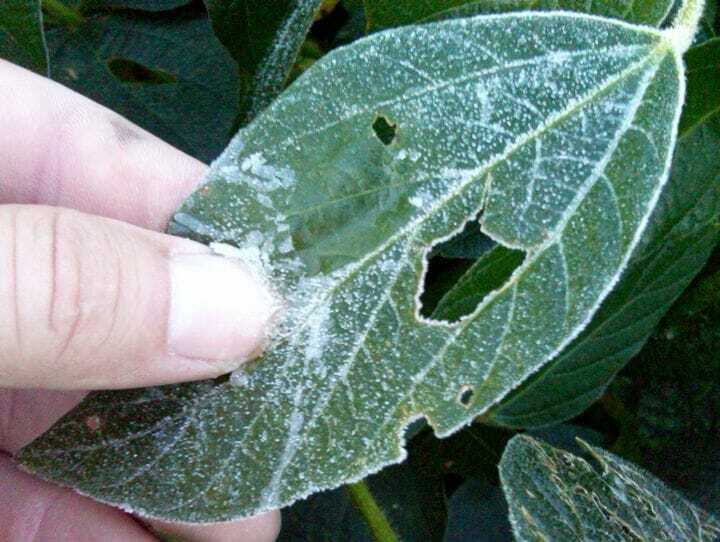
<svg viewBox="0 0 720 542">
<path fill-rule="evenodd" d="M 516 540 L 713 541 L 720 535 L 715 518 L 650 474 L 582 444 L 593 463 L 530 437 L 510 441 L 500 478 Z"/>
</svg>

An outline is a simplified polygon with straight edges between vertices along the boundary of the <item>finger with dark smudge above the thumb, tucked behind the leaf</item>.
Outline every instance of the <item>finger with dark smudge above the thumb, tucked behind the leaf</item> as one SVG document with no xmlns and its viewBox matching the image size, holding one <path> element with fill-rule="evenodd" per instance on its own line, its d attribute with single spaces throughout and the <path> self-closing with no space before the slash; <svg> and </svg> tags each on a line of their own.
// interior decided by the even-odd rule
<svg viewBox="0 0 720 542">
<path fill-rule="evenodd" d="M 109 109 L 0 60 L 0 203 L 162 230 L 205 171 Z"/>
</svg>

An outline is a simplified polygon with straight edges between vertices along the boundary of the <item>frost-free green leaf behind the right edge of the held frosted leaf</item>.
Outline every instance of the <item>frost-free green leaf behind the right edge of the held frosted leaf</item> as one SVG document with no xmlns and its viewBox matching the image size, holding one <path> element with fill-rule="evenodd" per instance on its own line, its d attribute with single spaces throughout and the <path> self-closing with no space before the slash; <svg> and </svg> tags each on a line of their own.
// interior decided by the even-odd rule
<svg viewBox="0 0 720 542">
<path fill-rule="evenodd" d="M 720 240 L 717 41 L 688 51 L 688 97 L 670 181 L 641 250 L 592 323 L 552 363 L 491 413 L 511 427 L 579 414 L 637 354 Z M 713 93 L 714 90 L 714 93 Z M 713 109 L 715 107 L 715 109 Z"/>
</svg>

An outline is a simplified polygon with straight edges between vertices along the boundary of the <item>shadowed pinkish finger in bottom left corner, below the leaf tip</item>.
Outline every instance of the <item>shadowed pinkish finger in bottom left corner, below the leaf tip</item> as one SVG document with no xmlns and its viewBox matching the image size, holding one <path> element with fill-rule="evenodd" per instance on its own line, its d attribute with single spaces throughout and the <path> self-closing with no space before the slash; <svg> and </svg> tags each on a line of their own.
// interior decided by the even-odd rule
<svg viewBox="0 0 720 542">
<path fill-rule="evenodd" d="M 151 542 L 155 537 L 120 510 L 19 471 L 0 456 L 0 525 L 12 542 Z"/>
</svg>

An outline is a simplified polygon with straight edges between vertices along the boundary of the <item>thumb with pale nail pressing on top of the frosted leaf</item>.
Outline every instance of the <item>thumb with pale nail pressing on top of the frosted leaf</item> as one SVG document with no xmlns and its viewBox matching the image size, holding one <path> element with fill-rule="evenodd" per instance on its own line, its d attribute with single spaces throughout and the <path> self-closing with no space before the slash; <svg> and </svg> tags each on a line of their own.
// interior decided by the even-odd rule
<svg viewBox="0 0 720 542">
<path fill-rule="evenodd" d="M 0 205 L 0 386 L 211 378 L 262 348 L 276 310 L 204 245 L 61 209 Z"/>
</svg>

